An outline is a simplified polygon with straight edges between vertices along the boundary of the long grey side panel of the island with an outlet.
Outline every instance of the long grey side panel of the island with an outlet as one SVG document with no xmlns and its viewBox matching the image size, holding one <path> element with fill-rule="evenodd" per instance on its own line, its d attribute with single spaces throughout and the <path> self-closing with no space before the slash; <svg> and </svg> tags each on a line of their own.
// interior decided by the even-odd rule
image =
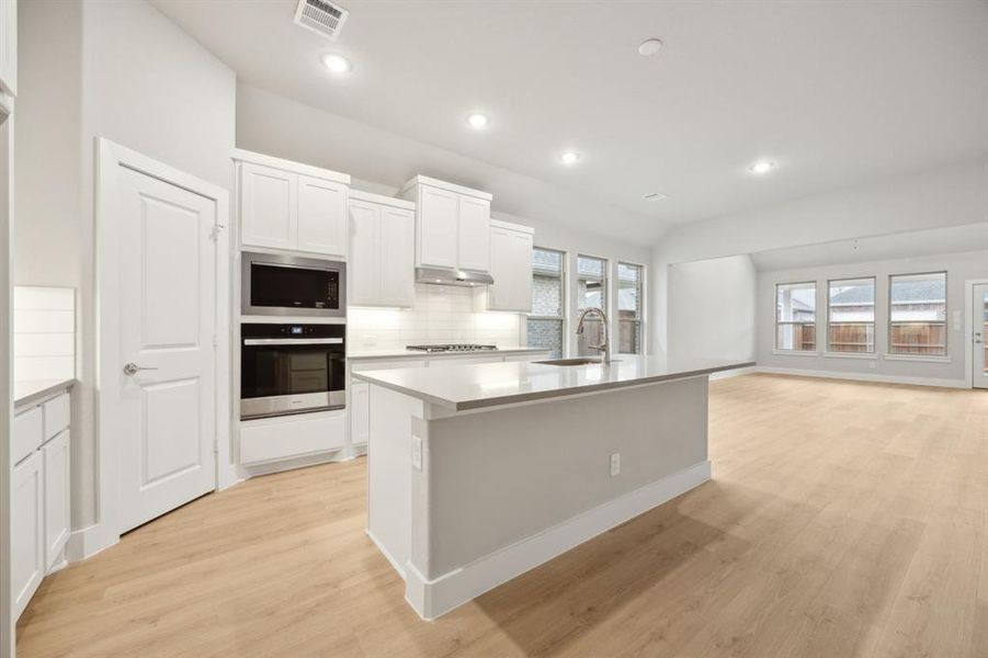
<svg viewBox="0 0 988 658">
<path fill-rule="evenodd" d="M 416 566 L 442 579 L 683 472 L 705 479 L 707 390 L 703 376 L 428 421 L 429 556 Z"/>
</svg>

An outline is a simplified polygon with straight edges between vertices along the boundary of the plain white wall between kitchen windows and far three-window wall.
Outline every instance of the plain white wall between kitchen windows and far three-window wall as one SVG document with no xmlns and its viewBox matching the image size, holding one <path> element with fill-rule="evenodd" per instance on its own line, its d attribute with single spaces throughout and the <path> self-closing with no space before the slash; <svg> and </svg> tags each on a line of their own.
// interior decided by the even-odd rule
<svg viewBox="0 0 988 658">
<path fill-rule="evenodd" d="M 757 272 L 748 256 L 669 268 L 669 353 L 754 360 Z"/>
</svg>

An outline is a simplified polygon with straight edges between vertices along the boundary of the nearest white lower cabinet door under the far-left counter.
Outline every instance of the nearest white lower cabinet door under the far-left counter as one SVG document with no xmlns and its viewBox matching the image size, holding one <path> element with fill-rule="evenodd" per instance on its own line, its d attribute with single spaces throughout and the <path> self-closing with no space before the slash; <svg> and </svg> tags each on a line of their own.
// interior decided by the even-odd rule
<svg viewBox="0 0 988 658">
<path fill-rule="evenodd" d="M 18 464 L 11 478 L 11 595 L 20 616 L 45 576 L 42 453 Z"/>
</svg>

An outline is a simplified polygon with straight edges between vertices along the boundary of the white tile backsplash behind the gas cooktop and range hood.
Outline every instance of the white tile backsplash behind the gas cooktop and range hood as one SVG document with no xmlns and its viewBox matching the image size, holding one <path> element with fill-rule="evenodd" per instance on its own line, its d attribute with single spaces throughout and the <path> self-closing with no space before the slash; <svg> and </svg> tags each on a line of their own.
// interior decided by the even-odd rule
<svg viewBox="0 0 988 658">
<path fill-rule="evenodd" d="M 474 290 L 416 285 L 412 308 L 351 307 L 348 342 L 356 350 L 394 350 L 418 343 L 519 344 L 522 318 L 513 313 L 475 313 Z"/>
</svg>

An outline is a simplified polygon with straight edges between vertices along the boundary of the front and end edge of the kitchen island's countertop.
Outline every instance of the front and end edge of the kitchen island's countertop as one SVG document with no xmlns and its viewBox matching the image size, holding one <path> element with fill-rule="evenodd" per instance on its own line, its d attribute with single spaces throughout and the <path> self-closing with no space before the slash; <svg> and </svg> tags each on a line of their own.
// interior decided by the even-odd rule
<svg viewBox="0 0 988 658">
<path fill-rule="evenodd" d="M 454 400 L 448 400 L 445 398 L 440 398 L 433 395 L 429 395 L 427 393 L 422 393 L 420 390 L 414 390 L 412 388 L 408 388 L 405 386 L 399 386 L 397 384 L 391 384 L 390 382 L 382 382 L 379 379 L 375 379 L 373 377 L 367 376 L 370 373 L 367 372 L 357 372 L 353 373 L 353 376 L 367 382 L 370 384 L 375 384 L 377 386 L 382 386 L 384 388 L 388 388 L 390 390 L 401 393 L 409 397 L 413 397 L 420 399 L 425 402 L 430 402 L 433 405 L 439 405 L 441 407 L 445 407 L 446 409 L 452 409 L 453 411 L 473 411 L 476 409 L 485 409 L 488 407 L 502 407 L 504 405 L 515 405 L 519 402 L 531 402 L 536 400 L 546 400 L 552 398 L 564 398 L 572 395 L 582 395 L 587 393 L 600 393 L 605 390 L 616 390 L 620 388 L 629 388 L 632 386 L 641 386 L 645 384 L 661 384 L 663 382 L 674 382 L 677 379 L 689 379 L 690 377 L 702 377 L 706 375 L 712 375 L 714 373 L 723 373 L 731 370 L 739 370 L 742 367 L 751 367 L 756 365 L 754 361 L 741 361 L 738 363 L 733 363 L 730 365 L 719 365 L 716 367 L 704 367 L 697 368 L 695 371 L 683 371 L 680 373 L 672 373 L 666 375 L 654 375 L 650 377 L 641 377 L 638 379 L 627 379 L 624 382 L 605 382 L 601 384 L 590 384 L 587 386 L 577 386 L 574 388 L 560 388 L 555 390 L 538 390 L 534 393 L 520 393 L 515 395 L 506 395 L 496 398 L 486 398 L 480 400 L 465 400 L 462 402 L 457 402 Z M 373 371 L 371 371 L 373 372 Z"/>
</svg>

